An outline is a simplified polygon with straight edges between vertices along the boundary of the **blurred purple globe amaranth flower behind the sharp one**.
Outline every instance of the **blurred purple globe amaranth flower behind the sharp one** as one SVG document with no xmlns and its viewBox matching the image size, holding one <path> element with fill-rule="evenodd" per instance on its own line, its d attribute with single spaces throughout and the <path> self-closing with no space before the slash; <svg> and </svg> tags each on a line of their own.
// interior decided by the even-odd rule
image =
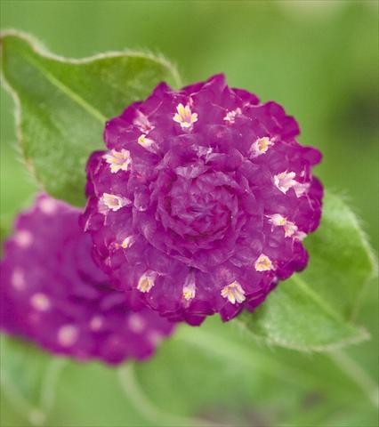
<svg viewBox="0 0 379 427">
<path fill-rule="evenodd" d="M 78 215 L 45 195 L 20 214 L 0 264 L 0 328 L 77 359 L 147 358 L 173 324 L 109 289 Z"/>
</svg>

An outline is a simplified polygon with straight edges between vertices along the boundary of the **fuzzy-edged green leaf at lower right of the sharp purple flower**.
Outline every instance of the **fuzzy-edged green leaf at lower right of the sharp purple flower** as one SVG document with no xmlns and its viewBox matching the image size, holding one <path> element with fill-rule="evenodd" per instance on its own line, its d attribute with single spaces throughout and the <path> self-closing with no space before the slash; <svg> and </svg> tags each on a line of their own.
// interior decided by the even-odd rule
<svg viewBox="0 0 379 427">
<path fill-rule="evenodd" d="M 305 241 L 310 262 L 270 294 L 254 313 L 236 320 L 254 336 L 296 350 L 330 350 L 367 338 L 351 321 L 375 258 L 355 214 L 327 192 L 319 230 Z"/>
</svg>

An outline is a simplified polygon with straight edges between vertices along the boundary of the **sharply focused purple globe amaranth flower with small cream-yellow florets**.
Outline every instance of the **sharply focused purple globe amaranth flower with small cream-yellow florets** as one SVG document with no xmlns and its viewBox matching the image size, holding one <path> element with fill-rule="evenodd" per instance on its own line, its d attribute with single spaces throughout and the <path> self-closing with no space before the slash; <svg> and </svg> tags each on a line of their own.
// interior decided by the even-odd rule
<svg viewBox="0 0 379 427">
<path fill-rule="evenodd" d="M 87 165 L 82 225 L 112 285 L 161 315 L 199 324 L 254 310 L 302 270 L 319 225 L 317 149 L 275 102 L 222 75 L 158 85 L 105 128 Z"/>
</svg>

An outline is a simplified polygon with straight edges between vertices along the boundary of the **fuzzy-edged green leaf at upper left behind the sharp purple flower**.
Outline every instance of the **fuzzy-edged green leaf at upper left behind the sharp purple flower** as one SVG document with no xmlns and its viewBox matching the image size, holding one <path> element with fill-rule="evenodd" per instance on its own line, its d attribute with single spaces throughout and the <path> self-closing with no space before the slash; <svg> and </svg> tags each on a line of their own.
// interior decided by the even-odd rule
<svg viewBox="0 0 379 427">
<path fill-rule="evenodd" d="M 159 82 L 179 80 L 169 62 L 151 54 L 69 60 L 15 31 L 1 36 L 1 60 L 26 164 L 53 197 L 75 205 L 85 202 L 85 162 L 104 148 L 105 122 L 146 98 Z"/>
</svg>

